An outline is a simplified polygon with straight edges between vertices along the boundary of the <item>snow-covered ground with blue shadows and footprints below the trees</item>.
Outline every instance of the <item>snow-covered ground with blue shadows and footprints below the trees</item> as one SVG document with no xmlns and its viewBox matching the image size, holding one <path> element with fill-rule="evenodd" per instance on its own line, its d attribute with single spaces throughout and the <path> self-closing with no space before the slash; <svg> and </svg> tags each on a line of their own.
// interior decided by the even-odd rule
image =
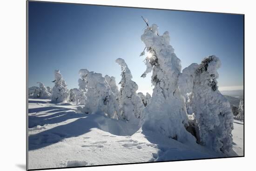
<svg viewBox="0 0 256 171">
<path fill-rule="evenodd" d="M 200 145 L 182 144 L 102 114 L 83 114 L 79 105 L 29 97 L 28 168 L 224 157 Z M 243 122 L 234 120 L 232 156 L 243 155 Z"/>
</svg>

